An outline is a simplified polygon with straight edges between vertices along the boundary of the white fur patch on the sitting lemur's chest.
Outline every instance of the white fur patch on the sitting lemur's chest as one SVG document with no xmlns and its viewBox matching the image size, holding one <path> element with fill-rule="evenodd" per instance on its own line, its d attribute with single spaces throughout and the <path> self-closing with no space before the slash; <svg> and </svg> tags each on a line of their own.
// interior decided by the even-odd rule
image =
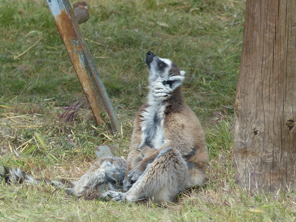
<svg viewBox="0 0 296 222">
<path fill-rule="evenodd" d="M 147 145 L 150 148 L 159 149 L 165 143 L 163 136 L 165 103 L 149 102 L 148 106 L 141 113 L 141 146 Z"/>
</svg>

